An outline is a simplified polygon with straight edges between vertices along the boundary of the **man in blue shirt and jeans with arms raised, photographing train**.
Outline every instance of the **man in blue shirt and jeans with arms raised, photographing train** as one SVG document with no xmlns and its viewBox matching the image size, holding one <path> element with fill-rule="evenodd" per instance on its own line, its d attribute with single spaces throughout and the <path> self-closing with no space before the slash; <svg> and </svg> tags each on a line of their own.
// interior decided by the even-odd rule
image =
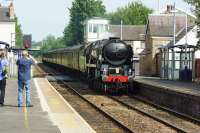
<svg viewBox="0 0 200 133">
<path fill-rule="evenodd" d="M 26 107 L 33 107 L 31 105 L 30 96 L 30 80 L 31 80 L 31 65 L 34 61 L 29 57 L 28 51 L 22 51 L 22 58 L 17 60 L 18 65 L 18 107 L 23 104 L 23 89 L 26 89 Z"/>
</svg>

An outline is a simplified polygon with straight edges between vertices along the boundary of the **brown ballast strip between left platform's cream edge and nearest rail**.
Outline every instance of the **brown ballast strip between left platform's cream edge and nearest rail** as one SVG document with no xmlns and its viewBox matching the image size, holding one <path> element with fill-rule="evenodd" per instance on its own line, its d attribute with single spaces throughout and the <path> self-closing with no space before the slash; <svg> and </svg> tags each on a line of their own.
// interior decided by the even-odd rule
<svg viewBox="0 0 200 133">
<path fill-rule="evenodd" d="M 49 71 L 47 70 L 49 68 L 45 66 L 40 65 L 40 67 Z M 51 75 L 53 75 L 52 73 Z M 50 83 L 98 133 L 134 133 L 134 131 L 113 119 L 109 114 L 94 106 L 65 82 L 50 81 Z"/>
</svg>

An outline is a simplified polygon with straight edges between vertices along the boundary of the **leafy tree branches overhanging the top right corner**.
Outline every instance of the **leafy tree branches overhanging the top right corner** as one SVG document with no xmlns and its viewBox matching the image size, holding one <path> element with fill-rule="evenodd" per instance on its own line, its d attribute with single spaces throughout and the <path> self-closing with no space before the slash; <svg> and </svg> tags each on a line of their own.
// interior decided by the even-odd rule
<svg viewBox="0 0 200 133">
<path fill-rule="evenodd" d="M 194 13 L 196 14 L 197 17 L 196 24 L 200 28 L 200 0 L 185 0 L 185 1 L 194 6 L 195 8 Z M 200 49 L 200 31 L 198 30 L 197 33 L 198 33 L 197 37 L 199 38 L 197 46 Z"/>
</svg>

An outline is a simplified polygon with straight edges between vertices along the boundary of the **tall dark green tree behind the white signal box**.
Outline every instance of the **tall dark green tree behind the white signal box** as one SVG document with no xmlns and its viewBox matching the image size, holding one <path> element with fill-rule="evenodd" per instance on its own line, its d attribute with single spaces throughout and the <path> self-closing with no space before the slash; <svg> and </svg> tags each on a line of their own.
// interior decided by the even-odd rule
<svg viewBox="0 0 200 133">
<path fill-rule="evenodd" d="M 106 9 L 101 0 L 74 0 L 70 11 L 69 25 L 64 29 L 64 43 L 76 45 L 84 41 L 83 22 L 91 17 L 101 17 Z"/>
</svg>

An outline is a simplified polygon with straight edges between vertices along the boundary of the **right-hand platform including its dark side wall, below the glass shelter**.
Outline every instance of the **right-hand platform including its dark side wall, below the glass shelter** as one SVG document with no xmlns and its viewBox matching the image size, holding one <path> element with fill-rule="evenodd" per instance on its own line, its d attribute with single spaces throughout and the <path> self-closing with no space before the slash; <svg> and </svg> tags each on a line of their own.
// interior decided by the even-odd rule
<svg viewBox="0 0 200 133">
<path fill-rule="evenodd" d="M 136 77 L 134 85 L 135 95 L 145 101 L 151 101 L 154 105 L 200 122 L 200 84 L 155 77 Z"/>
</svg>

